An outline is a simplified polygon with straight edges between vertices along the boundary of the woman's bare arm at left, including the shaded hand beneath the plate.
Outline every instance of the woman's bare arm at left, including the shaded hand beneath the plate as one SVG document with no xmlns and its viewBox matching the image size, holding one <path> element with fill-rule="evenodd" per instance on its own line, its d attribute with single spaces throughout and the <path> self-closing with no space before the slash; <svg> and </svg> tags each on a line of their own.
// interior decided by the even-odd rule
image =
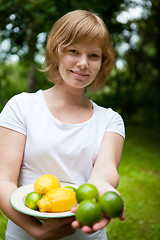
<svg viewBox="0 0 160 240">
<path fill-rule="evenodd" d="M 25 135 L 0 127 L 0 208 L 4 214 L 35 239 L 59 239 L 74 233 L 74 218 L 51 219 L 42 224 L 24 215 L 9 203 L 10 194 L 17 188 L 19 171 L 25 149 Z"/>
</svg>

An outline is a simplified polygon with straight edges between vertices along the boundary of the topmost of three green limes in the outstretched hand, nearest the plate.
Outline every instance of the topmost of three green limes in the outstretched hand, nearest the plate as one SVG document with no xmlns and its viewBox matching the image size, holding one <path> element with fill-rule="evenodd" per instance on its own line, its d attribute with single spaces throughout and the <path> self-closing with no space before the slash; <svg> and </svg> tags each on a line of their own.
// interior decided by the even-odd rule
<svg viewBox="0 0 160 240">
<path fill-rule="evenodd" d="M 98 200 L 98 198 L 99 198 L 99 193 L 96 186 L 90 183 L 82 184 L 76 191 L 76 199 L 78 203 L 80 203 L 85 199 Z"/>
</svg>

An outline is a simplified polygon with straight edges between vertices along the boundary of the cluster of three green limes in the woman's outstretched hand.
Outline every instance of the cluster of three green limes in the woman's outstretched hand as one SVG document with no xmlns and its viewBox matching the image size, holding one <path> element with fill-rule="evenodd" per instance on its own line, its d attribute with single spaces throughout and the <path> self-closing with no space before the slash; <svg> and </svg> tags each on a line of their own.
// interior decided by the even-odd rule
<svg viewBox="0 0 160 240">
<path fill-rule="evenodd" d="M 117 193 L 105 192 L 99 197 L 97 188 L 90 183 L 77 189 L 76 199 L 79 203 L 76 219 L 81 226 L 92 226 L 100 220 L 102 214 L 108 218 L 120 217 L 124 208 L 123 200 Z"/>
</svg>

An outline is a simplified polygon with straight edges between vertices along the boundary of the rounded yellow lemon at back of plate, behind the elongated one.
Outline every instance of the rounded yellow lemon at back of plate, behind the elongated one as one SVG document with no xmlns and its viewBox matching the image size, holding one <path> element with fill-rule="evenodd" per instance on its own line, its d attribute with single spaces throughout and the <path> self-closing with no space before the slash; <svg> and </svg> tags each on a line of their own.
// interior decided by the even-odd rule
<svg viewBox="0 0 160 240">
<path fill-rule="evenodd" d="M 51 174 L 42 175 L 37 179 L 34 184 L 34 191 L 40 194 L 46 194 L 53 188 L 60 187 L 60 181 L 58 178 Z"/>
</svg>

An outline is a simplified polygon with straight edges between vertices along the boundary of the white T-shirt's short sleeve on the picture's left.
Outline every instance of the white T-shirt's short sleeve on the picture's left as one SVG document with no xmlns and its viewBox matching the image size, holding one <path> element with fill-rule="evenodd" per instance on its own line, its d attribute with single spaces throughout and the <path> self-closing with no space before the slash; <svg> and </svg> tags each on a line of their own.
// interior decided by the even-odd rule
<svg viewBox="0 0 160 240">
<path fill-rule="evenodd" d="M 26 135 L 26 122 L 23 114 L 23 94 L 12 97 L 0 114 L 0 126 Z"/>
</svg>

